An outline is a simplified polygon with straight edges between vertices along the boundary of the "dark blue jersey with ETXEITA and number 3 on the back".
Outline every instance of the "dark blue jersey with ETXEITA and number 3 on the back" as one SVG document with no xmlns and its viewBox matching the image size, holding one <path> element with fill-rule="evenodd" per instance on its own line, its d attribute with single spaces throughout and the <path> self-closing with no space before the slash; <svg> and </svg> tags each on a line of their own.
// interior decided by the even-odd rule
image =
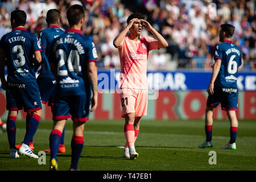
<svg viewBox="0 0 256 182">
<path fill-rule="evenodd" d="M 41 51 L 38 38 L 26 28 L 14 28 L 3 35 L 0 51 L 7 58 L 7 81 L 20 83 L 36 81 L 32 59 L 35 51 Z"/>
</svg>

